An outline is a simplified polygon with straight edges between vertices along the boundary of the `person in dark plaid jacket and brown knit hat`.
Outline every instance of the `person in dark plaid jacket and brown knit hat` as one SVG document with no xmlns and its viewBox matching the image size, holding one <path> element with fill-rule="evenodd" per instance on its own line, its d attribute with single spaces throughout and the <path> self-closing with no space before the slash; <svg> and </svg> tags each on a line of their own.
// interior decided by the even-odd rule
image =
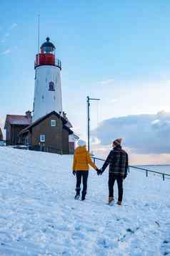
<svg viewBox="0 0 170 256">
<path fill-rule="evenodd" d="M 117 204 L 122 204 L 123 199 L 123 181 L 126 179 L 128 170 L 128 154 L 121 148 L 122 138 L 117 138 L 113 141 L 113 149 L 107 156 L 102 168 L 97 172 L 98 175 L 103 174 L 106 167 L 109 165 L 109 204 L 114 202 L 114 182 L 118 185 L 118 201 Z"/>
</svg>

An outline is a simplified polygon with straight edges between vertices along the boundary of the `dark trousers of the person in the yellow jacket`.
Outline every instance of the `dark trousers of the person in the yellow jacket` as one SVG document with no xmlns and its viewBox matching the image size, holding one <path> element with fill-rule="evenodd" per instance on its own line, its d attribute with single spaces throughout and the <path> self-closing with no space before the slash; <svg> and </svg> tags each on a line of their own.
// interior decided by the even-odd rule
<svg viewBox="0 0 170 256">
<path fill-rule="evenodd" d="M 76 193 L 80 194 L 81 190 L 81 179 L 83 179 L 83 191 L 82 195 L 86 196 L 87 189 L 87 179 L 88 179 L 89 171 L 76 171 Z"/>
</svg>

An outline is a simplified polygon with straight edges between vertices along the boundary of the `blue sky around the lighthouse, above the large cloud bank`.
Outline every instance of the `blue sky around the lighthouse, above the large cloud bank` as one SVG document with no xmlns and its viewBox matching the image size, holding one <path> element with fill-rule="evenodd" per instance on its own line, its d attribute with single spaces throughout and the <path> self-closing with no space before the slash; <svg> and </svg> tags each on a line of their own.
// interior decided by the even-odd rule
<svg viewBox="0 0 170 256">
<path fill-rule="evenodd" d="M 86 95 L 91 127 L 107 118 L 169 111 L 170 2 L 4 1 L 0 3 L 0 118 L 23 114 L 34 98 L 36 22 L 62 61 L 64 110 L 86 136 Z M 79 116 L 79 118 L 77 118 Z M 113 136 L 114 137 L 114 136 Z"/>
</svg>

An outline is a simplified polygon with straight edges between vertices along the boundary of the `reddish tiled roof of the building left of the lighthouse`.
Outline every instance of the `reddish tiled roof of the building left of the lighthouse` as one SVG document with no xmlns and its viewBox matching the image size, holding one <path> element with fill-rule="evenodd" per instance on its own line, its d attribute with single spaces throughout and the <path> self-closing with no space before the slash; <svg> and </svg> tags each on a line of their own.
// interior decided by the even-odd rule
<svg viewBox="0 0 170 256">
<path fill-rule="evenodd" d="M 5 128 L 7 123 L 10 125 L 30 125 L 31 118 L 26 115 L 6 115 Z"/>
</svg>

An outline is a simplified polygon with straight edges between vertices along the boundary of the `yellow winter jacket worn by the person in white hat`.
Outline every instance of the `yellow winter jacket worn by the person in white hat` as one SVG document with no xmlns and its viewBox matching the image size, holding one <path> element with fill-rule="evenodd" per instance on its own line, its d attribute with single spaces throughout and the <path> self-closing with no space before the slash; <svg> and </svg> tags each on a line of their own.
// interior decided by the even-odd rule
<svg viewBox="0 0 170 256">
<path fill-rule="evenodd" d="M 97 169 L 96 165 L 91 161 L 86 146 L 78 147 L 74 151 L 73 171 L 89 171 L 89 165 Z"/>
</svg>

